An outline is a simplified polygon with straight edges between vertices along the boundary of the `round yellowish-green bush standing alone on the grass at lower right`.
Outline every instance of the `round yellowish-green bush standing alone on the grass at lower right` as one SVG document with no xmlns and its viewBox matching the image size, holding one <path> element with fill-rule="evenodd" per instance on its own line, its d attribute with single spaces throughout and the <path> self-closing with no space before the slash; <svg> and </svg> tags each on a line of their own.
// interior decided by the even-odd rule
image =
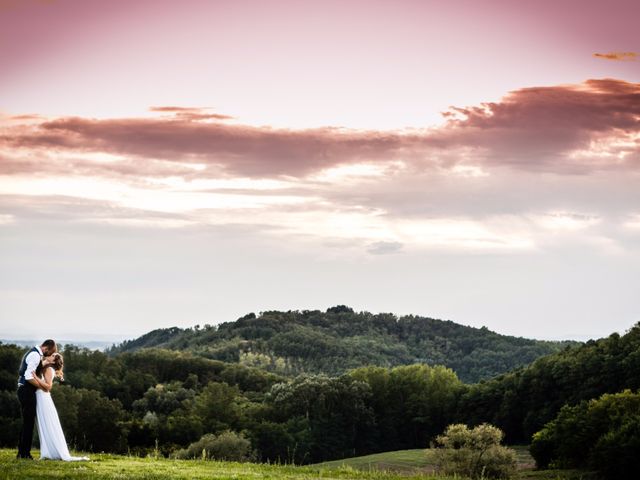
<svg viewBox="0 0 640 480">
<path fill-rule="evenodd" d="M 436 438 L 436 466 L 449 475 L 477 478 L 510 478 L 516 470 L 516 453 L 500 445 L 504 434 L 493 425 L 473 429 L 449 425 Z"/>
</svg>

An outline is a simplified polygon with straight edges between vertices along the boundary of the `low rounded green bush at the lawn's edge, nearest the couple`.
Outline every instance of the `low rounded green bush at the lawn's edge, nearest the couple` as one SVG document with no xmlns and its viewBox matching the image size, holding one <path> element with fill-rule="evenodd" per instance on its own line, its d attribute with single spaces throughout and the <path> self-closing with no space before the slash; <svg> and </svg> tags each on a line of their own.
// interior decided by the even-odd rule
<svg viewBox="0 0 640 480">
<path fill-rule="evenodd" d="M 251 442 L 244 435 L 227 430 L 219 435 L 208 433 L 188 448 L 178 450 L 175 458 L 202 458 L 204 460 L 227 460 L 243 462 L 253 460 Z"/>
</svg>

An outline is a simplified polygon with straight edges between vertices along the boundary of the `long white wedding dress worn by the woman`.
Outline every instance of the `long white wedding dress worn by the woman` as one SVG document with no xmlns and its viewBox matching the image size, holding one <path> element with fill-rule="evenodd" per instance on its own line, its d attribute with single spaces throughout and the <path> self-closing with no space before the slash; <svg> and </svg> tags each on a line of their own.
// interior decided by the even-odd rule
<svg viewBox="0 0 640 480">
<path fill-rule="evenodd" d="M 49 367 L 51 368 L 51 367 Z M 53 368 L 51 368 L 53 370 Z M 38 437 L 40 437 L 40 459 L 50 458 L 74 462 L 89 460 L 89 457 L 72 457 L 62 432 L 58 411 L 51 393 L 36 390 L 36 416 L 38 419 Z"/>
</svg>

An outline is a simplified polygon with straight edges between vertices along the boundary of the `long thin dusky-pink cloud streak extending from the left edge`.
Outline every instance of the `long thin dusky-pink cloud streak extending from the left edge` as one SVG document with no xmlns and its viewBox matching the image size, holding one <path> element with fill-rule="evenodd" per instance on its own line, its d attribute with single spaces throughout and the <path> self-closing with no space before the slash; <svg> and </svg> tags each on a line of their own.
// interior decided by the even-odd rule
<svg viewBox="0 0 640 480">
<path fill-rule="evenodd" d="M 193 118 L 95 120 L 61 118 L 6 128 L 0 145 L 12 149 L 104 152 L 176 163 L 201 163 L 229 174 L 301 176 L 342 163 L 420 154 L 417 136 L 334 128 L 276 130 Z M 216 172 L 217 173 L 217 172 Z M 206 175 L 206 173 L 204 173 Z"/>
</svg>

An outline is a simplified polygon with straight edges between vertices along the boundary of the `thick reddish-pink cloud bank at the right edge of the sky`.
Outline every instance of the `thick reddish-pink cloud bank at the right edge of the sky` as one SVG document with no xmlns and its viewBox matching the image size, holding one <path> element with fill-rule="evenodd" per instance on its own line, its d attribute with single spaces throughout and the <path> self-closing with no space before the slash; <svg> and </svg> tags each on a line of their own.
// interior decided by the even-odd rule
<svg viewBox="0 0 640 480">
<path fill-rule="evenodd" d="M 435 134 L 442 147 L 474 148 L 475 162 L 556 173 L 638 168 L 640 84 L 587 80 L 579 85 L 523 88 L 500 102 L 452 108 L 446 128 Z M 616 162 L 607 144 L 629 140 Z M 575 158 L 594 142 L 602 150 Z"/>
</svg>

